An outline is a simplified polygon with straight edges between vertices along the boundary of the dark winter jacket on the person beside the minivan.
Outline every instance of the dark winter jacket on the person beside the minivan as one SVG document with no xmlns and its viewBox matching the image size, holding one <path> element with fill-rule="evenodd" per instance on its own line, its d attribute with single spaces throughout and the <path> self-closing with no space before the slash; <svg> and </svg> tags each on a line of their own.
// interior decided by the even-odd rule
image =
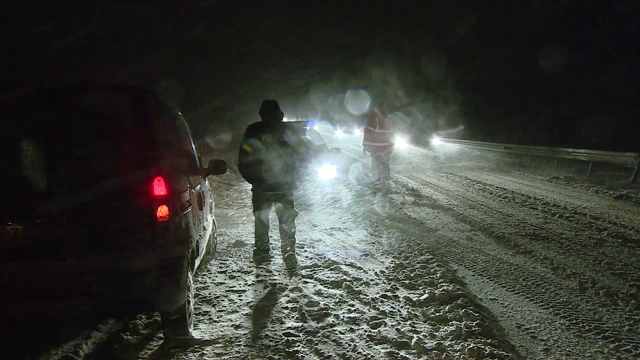
<svg viewBox="0 0 640 360">
<path fill-rule="evenodd" d="M 247 127 L 238 151 L 238 170 L 253 191 L 293 192 L 302 138 L 280 120 Z"/>
</svg>

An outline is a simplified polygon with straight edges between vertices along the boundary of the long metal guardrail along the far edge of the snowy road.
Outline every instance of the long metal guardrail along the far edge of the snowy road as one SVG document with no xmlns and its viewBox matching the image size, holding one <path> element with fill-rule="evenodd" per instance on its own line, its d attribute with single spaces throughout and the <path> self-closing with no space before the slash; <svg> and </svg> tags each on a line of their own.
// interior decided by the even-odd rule
<svg viewBox="0 0 640 360">
<path fill-rule="evenodd" d="M 447 138 L 442 138 L 441 141 L 449 144 L 458 144 L 458 145 L 464 145 L 464 146 L 474 147 L 478 149 L 500 151 L 500 152 L 511 153 L 511 154 L 585 161 L 589 163 L 589 172 L 587 173 L 587 175 L 591 174 L 591 167 L 593 163 L 605 163 L 605 164 L 611 164 L 611 165 L 631 167 L 631 168 L 634 168 L 633 175 L 631 175 L 631 183 L 635 183 L 638 180 L 638 167 L 640 167 L 640 153 L 498 144 L 498 143 L 447 139 Z"/>
</svg>

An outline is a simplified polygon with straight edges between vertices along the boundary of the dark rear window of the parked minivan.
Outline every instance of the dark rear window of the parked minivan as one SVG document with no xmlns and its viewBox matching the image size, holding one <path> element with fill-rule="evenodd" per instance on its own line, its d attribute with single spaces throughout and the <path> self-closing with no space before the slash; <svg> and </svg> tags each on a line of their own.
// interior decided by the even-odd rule
<svg viewBox="0 0 640 360">
<path fill-rule="evenodd" d="M 113 91 L 3 100 L 0 215 L 24 215 L 35 203 L 140 166 L 147 141 L 135 120 L 145 118 L 140 111 L 131 94 Z"/>
</svg>

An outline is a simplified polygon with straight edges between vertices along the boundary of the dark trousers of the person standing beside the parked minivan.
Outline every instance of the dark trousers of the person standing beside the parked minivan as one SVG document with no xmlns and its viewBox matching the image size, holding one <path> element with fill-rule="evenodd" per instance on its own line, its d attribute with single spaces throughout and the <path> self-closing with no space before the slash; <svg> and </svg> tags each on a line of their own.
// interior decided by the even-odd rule
<svg viewBox="0 0 640 360">
<path fill-rule="evenodd" d="M 269 214 L 275 207 L 280 230 L 282 254 L 295 251 L 296 217 L 298 212 L 293 206 L 293 193 L 253 192 L 253 216 L 255 217 L 255 247 L 269 249 Z"/>
</svg>

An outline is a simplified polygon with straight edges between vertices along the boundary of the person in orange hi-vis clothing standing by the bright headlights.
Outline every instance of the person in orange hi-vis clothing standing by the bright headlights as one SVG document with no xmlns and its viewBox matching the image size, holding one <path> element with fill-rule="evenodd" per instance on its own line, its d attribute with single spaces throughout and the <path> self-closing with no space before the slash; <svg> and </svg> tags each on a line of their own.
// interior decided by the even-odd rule
<svg viewBox="0 0 640 360">
<path fill-rule="evenodd" d="M 374 108 L 364 129 L 362 152 L 371 154 L 371 177 L 383 191 L 389 190 L 390 160 L 394 137 L 391 122 L 379 108 Z"/>
</svg>

